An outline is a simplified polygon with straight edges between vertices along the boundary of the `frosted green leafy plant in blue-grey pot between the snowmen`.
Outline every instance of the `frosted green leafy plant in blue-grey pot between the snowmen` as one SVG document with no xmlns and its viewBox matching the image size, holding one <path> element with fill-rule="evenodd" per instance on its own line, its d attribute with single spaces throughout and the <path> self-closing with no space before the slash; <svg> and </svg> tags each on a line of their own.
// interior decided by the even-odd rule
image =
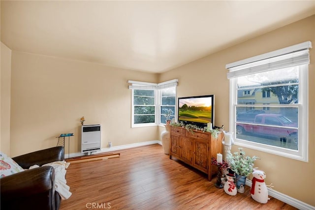
<svg viewBox="0 0 315 210">
<path fill-rule="evenodd" d="M 259 157 L 245 156 L 245 151 L 242 148 L 239 148 L 239 150 L 240 152 L 229 153 L 226 158 L 230 169 L 235 173 L 237 191 L 243 193 L 246 178 L 253 172 L 254 162 Z"/>
</svg>

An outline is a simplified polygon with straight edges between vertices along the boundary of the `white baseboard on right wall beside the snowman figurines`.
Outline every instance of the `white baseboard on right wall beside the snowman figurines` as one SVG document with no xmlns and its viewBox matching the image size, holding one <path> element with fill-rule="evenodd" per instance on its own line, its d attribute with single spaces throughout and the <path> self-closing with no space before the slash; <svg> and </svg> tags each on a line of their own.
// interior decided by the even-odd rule
<svg viewBox="0 0 315 210">
<path fill-rule="evenodd" d="M 252 187 L 252 181 L 251 180 L 246 180 L 246 185 Z M 304 203 L 302 201 L 299 201 L 295 198 L 292 198 L 288 195 L 285 195 L 281 192 L 278 192 L 274 189 L 271 189 L 271 188 L 267 188 L 268 189 L 268 195 L 270 195 L 271 197 L 273 198 L 276 198 L 278 199 L 279 201 L 282 201 L 288 205 L 291 205 L 292 207 L 295 207 L 299 210 L 315 210 L 315 207 L 307 204 L 307 203 Z"/>
</svg>

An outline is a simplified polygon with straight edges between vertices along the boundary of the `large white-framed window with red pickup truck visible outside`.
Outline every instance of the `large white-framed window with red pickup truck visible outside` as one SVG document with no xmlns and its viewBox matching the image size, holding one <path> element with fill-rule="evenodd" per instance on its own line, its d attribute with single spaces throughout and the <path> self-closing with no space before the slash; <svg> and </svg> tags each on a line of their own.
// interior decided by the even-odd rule
<svg viewBox="0 0 315 210">
<path fill-rule="evenodd" d="M 308 161 L 311 47 L 304 42 L 226 65 L 235 145 Z M 255 94 L 249 99 L 242 90 Z"/>
</svg>

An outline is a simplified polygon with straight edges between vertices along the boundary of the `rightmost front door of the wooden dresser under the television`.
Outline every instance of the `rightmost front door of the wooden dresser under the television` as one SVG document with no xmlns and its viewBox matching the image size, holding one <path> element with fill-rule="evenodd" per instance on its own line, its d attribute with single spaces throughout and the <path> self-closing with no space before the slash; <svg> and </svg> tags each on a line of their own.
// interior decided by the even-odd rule
<svg viewBox="0 0 315 210">
<path fill-rule="evenodd" d="M 194 141 L 193 165 L 208 173 L 209 144 L 202 141 Z"/>
</svg>

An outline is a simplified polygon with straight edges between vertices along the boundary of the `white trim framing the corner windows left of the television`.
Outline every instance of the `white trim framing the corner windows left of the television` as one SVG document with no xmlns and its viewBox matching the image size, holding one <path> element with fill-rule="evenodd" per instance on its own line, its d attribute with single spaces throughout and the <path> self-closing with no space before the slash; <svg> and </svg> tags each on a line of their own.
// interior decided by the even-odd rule
<svg viewBox="0 0 315 210">
<path fill-rule="evenodd" d="M 140 81 L 128 80 L 127 83 L 130 85 L 128 89 L 132 90 L 131 92 L 131 127 L 147 127 L 147 126 L 162 126 L 164 124 L 160 123 L 160 106 L 161 106 L 161 95 L 160 91 L 162 89 L 176 87 L 178 85 L 178 79 L 162 82 L 162 83 L 147 83 Z M 133 105 L 133 90 L 155 90 L 155 122 L 152 123 L 137 123 L 134 124 L 134 105 Z M 176 97 L 176 95 L 175 95 Z M 175 100 L 176 101 L 176 100 Z M 176 109 L 176 103 L 175 103 Z M 176 110 L 175 110 L 175 118 L 176 118 Z"/>
</svg>

